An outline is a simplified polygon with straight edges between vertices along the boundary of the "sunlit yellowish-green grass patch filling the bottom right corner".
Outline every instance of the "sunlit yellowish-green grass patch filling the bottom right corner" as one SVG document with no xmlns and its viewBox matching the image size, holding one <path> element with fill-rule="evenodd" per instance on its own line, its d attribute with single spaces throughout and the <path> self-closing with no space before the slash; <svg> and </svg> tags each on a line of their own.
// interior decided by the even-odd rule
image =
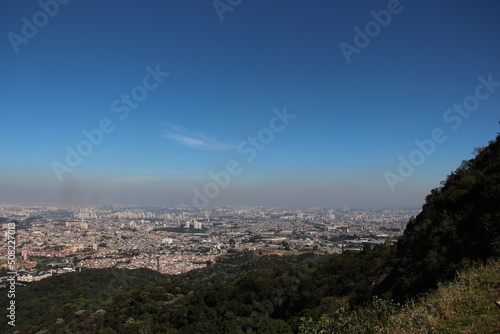
<svg viewBox="0 0 500 334">
<path fill-rule="evenodd" d="M 491 260 L 460 272 L 457 281 L 439 284 L 396 313 L 385 333 L 498 333 L 500 261 Z"/>
</svg>

